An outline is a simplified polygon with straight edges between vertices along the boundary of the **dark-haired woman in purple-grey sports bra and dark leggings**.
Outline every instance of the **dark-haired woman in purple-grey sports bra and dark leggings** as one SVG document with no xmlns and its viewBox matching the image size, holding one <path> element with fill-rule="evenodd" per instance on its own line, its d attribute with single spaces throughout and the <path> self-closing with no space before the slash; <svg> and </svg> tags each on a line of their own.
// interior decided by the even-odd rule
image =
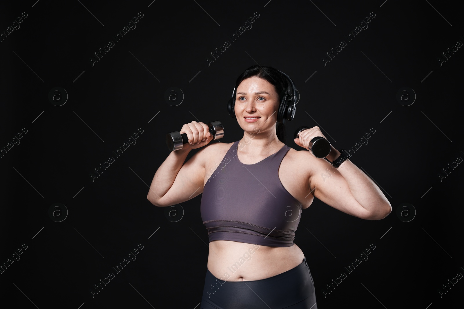
<svg viewBox="0 0 464 309">
<path fill-rule="evenodd" d="M 201 309 L 316 309 L 306 258 L 293 243 L 302 209 L 316 196 L 347 214 L 380 220 L 391 212 L 390 203 L 351 161 L 335 169 L 310 151 L 285 145 L 281 115 L 292 87 L 280 71 L 255 65 L 235 86 L 229 113 L 243 138 L 208 145 L 213 136 L 206 124 L 185 124 L 180 133 L 189 144 L 161 164 L 147 198 L 164 207 L 203 193 L 200 210 L 210 243 Z M 316 136 L 324 137 L 317 126 L 294 141 L 309 150 Z M 333 162 L 340 155 L 332 148 L 326 158 Z M 321 177 L 328 169 L 329 179 Z"/>
</svg>

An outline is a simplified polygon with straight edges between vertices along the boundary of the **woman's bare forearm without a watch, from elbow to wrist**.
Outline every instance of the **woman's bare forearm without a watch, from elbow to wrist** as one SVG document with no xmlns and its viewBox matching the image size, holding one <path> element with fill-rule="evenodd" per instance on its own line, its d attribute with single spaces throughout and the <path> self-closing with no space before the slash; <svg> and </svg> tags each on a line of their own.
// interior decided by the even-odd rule
<svg viewBox="0 0 464 309">
<path fill-rule="evenodd" d="M 158 201 L 168 192 L 189 152 L 190 149 L 171 151 L 168 158 L 156 170 L 147 195 L 147 199 L 150 202 L 154 203 Z"/>
</svg>

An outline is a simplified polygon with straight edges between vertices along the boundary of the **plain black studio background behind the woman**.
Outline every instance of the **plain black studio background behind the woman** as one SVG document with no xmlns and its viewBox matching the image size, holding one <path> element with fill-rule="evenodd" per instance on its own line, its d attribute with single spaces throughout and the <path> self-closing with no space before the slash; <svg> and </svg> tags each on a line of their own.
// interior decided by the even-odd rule
<svg viewBox="0 0 464 309">
<path fill-rule="evenodd" d="M 317 199 L 303 210 L 295 243 L 308 260 L 318 308 L 458 304 L 463 280 L 441 297 L 438 290 L 464 274 L 464 167 L 459 164 L 441 182 L 438 175 L 464 158 L 463 51 L 442 65 L 438 59 L 464 42 L 462 6 L 393 0 L 8 1 L 1 5 L 0 32 L 23 12 L 20 28 L 0 43 L 0 149 L 27 130 L 0 160 L 0 265 L 27 246 L 0 274 L 4 306 L 199 308 L 208 254 L 201 195 L 166 214 L 148 202 L 148 186 L 169 154 L 167 132 L 193 120 L 220 120 L 221 142 L 243 137 L 226 102 L 237 76 L 256 63 L 284 71 L 301 94 L 296 117 L 287 122 L 290 147 L 303 150 L 292 138 L 302 125 L 321 127 L 337 149 L 354 147 L 375 130 L 351 161 L 379 185 L 391 214 L 362 220 Z M 136 28 L 117 42 L 112 35 L 139 12 Z M 229 35 L 255 12 L 252 28 L 232 42 Z M 344 35 L 371 12 L 368 28 L 348 42 Z M 110 40 L 115 46 L 92 65 L 94 53 Z M 231 46 L 208 65 L 206 58 L 225 41 Z M 326 53 L 341 41 L 347 46 L 324 66 Z M 48 99 L 54 87 L 66 90 L 64 105 L 56 106 L 62 92 L 56 101 Z M 170 87 L 182 90 L 178 106 L 172 105 L 180 101 L 164 99 Z M 413 101 L 411 92 L 410 101 L 396 99 L 403 87 L 417 96 L 412 105 L 404 106 Z M 136 144 L 117 158 L 112 151 L 139 128 Z M 92 182 L 90 174 L 110 156 L 116 162 Z M 61 220 L 64 207 L 49 215 L 54 203 L 69 212 L 61 222 L 52 218 Z M 411 207 L 397 214 L 402 203 L 413 205 L 411 221 L 400 220 L 412 216 Z M 92 297 L 94 284 L 139 244 L 136 260 Z M 346 273 L 344 267 L 370 244 L 375 250 L 369 259 L 324 297 L 326 284 Z"/>
</svg>

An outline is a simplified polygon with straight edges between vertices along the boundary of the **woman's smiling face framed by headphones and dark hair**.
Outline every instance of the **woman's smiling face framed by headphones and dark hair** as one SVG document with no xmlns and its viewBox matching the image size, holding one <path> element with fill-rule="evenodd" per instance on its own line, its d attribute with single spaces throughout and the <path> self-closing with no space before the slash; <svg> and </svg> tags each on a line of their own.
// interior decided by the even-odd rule
<svg viewBox="0 0 464 309">
<path fill-rule="evenodd" d="M 274 85 L 257 76 L 247 78 L 238 85 L 235 96 L 238 124 L 246 132 L 275 130 L 279 104 Z"/>
</svg>

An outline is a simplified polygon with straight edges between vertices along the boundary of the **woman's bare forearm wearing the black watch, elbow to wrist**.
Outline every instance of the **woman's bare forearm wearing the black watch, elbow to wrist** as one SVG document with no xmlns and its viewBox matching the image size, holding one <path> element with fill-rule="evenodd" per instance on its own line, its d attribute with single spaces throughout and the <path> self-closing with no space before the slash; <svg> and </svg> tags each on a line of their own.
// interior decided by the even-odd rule
<svg viewBox="0 0 464 309">
<path fill-rule="evenodd" d="M 338 156 L 340 152 L 333 148 L 327 159 L 333 162 Z M 337 170 L 347 182 L 356 201 L 373 214 L 373 217 L 382 219 L 392 210 L 390 202 L 380 188 L 349 159 L 343 162 Z"/>
</svg>

